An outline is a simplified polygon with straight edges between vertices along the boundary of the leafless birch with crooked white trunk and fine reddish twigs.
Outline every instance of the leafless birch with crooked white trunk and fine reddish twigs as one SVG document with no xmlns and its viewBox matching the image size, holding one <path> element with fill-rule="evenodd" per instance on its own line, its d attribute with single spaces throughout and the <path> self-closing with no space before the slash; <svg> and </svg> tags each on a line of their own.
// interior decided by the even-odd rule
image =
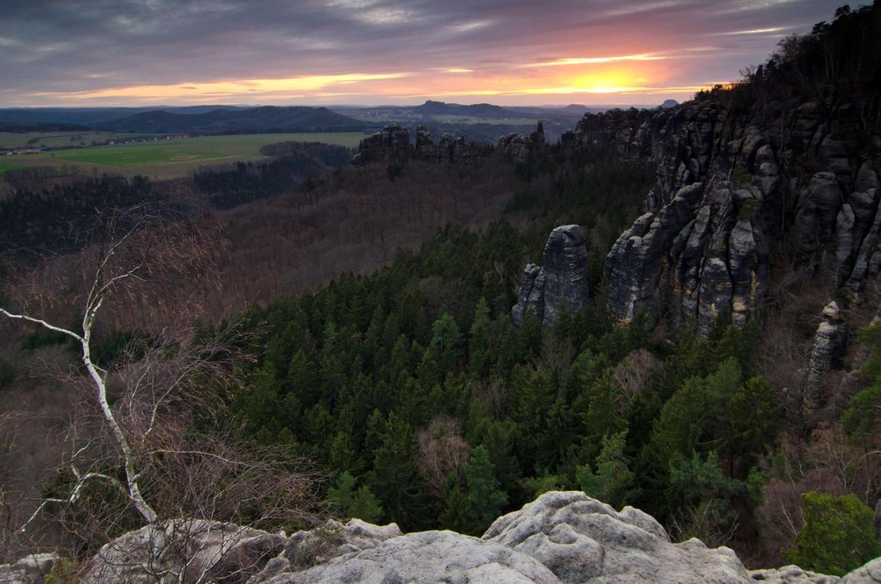
<svg viewBox="0 0 881 584">
<path fill-rule="evenodd" d="M 63 386 L 88 398 L 70 423 L 57 480 L 33 513 L 7 525 L 4 539 L 26 537 L 49 518 L 87 549 L 106 543 L 88 569 L 107 571 L 107 581 L 135 571 L 157 582 L 198 583 L 215 579 L 230 550 L 263 533 L 237 523 L 314 522 L 318 475 L 307 462 L 252 445 L 222 422 L 234 365 L 248 356 L 233 356 L 241 339 L 232 330 L 196 334 L 196 296 L 177 299 L 178 326 L 132 342 L 112 362 L 95 356 L 108 306 L 168 302 L 164 288 L 211 278 L 210 238 L 187 221 L 137 207 L 101 213 L 85 243 L 19 277 L 0 302 L 0 315 L 12 322 L 73 341 L 81 366 Z M 76 326 L 57 324 L 65 304 L 78 309 Z M 135 537 L 142 549 L 130 548 L 131 537 L 115 543 L 138 527 L 133 533 L 147 534 Z M 120 545 L 129 548 L 114 549 Z M 273 540 L 270 548 L 277 546 Z M 220 571 L 247 573 L 260 559 Z"/>
</svg>

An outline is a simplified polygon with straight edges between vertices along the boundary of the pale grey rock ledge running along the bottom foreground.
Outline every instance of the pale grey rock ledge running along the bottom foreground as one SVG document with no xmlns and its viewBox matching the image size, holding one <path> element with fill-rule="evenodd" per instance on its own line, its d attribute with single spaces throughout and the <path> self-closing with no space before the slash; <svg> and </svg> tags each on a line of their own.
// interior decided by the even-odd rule
<svg viewBox="0 0 881 584">
<path fill-rule="evenodd" d="M 58 557 L 0 565 L 4 584 L 41 584 Z M 842 579 L 797 566 L 747 572 L 728 548 L 671 543 L 633 507 L 615 511 L 581 491 L 551 491 L 495 520 L 482 538 L 452 531 L 401 535 L 393 523 L 329 520 L 284 533 L 212 521 L 169 521 L 122 535 L 86 565 L 84 584 L 178 581 L 247 584 L 877 584 L 881 558 Z"/>
</svg>

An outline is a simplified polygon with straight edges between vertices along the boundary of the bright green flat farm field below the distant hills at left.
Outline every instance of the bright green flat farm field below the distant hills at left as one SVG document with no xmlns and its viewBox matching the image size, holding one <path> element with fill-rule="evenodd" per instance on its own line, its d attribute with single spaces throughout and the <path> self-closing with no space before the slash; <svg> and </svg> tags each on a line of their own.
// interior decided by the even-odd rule
<svg viewBox="0 0 881 584">
<path fill-rule="evenodd" d="M 266 157 L 260 153 L 260 146 L 275 142 L 296 140 L 352 147 L 358 146 L 363 138 L 364 134 L 360 132 L 201 136 L 21 154 L 14 157 L 14 163 L 29 167 L 77 166 L 80 172 L 88 174 L 107 172 L 125 176 L 174 178 L 187 176 L 195 168 L 206 164 L 263 160 Z"/>
</svg>

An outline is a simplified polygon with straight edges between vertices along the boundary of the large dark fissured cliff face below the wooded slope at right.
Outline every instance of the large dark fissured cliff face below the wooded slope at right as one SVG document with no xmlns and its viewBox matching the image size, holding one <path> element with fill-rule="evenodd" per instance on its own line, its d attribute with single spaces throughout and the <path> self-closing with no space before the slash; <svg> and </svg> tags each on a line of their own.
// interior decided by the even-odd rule
<svg viewBox="0 0 881 584">
<path fill-rule="evenodd" d="M 611 311 L 700 333 L 723 312 L 742 325 L 761 317 L 768 257 L 784 248 L 804 277 L 833 273 L 858 295 L 881 271 L 881 137 L 855 154 L 845 137 L 856 124 L 831 99 L 586 114 L 564 149 L 611 149 L 657 168 L 645 214 L 606 261 Z"/>
</svg>

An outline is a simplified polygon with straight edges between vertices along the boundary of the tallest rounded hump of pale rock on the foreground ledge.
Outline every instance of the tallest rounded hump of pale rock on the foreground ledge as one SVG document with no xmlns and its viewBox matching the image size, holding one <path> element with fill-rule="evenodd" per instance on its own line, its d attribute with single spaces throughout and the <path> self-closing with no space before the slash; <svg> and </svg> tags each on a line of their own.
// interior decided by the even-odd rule
<svg viewBox="0 0 881 584">
<path fill-rule="evenodd" d="M 545 493 L 500 517 L 483 538 L 529 554 L 566 584 L 750 580 L 734 551 L 710 550 L 695 539 L 670 543 L 648 514 L 633 507 L 616 512 L 581 491 Z"/>
</svg>

